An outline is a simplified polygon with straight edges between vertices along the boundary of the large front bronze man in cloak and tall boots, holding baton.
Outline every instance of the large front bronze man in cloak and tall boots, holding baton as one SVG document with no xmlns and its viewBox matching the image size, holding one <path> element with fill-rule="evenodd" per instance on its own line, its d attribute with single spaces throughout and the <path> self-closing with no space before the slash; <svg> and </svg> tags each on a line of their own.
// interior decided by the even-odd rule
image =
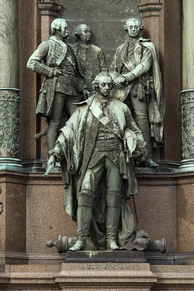
<svg viewBox="0 0 194 291">
<path fill-rule="evenodd" d="M 61 162 L 65 211 L 77 221 L 82 250 L 88 234 L 98 250 L 144 250 L 150 241 L 136 229 L 130 195 L 139 194 L 133 160 L 144 162 L 146 143 L 126 104 L 111 97 L 112 78 L 101 72 L 93 81 L 96 94 L 78 103 L 62 128 L 49 162 Z"/>
</svg>

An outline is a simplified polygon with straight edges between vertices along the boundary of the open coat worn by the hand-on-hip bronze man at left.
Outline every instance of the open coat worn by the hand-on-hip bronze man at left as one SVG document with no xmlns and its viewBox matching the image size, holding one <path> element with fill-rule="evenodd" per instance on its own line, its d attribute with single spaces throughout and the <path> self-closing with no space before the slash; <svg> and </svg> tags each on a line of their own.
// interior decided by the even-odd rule
<svg viewBox="0 0 194 291">
<path fill-rule="evenodd" d="M 27 67 L 32 71 L 45 76 L 40 89 L 36 114 L 50 116 L 52 113 L 54 89 L 57 81 L 57 77 L 53 77 L 53 69 L 55 67 L 60 68 L 61 63 L 65 59 L 67 48 L 72 50 L 76 60 L 76 62 L 74 62 L 71 57 L 67 56 L 68 61 L 74 66 L 77 74 L 77 90 L 81 92 L 86 88 L 84 77 L 81 74 L 81 66 L 72 46 L 59 40 L 55 36 L 50 36 L 49 40 L 41 43 L 34 51 L 27 64 Z M 41 64 L 42 60 L 45 64 Z"/>
</svg>

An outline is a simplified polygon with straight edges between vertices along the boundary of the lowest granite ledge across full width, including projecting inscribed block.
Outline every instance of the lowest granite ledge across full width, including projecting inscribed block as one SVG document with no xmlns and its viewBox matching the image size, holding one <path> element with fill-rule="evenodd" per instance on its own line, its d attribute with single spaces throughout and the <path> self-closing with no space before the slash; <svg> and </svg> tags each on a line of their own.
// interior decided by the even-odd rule
<svg viewBox="0 0 194 291">
<path fill-rule="evenodd" d="M 109 264 L 106 264 L 109 265 Z M 194 265 L 129 264 L 129 270 L 84 270 L 82 264 L 0 266 L 0 290 L 194 290 Z"/>
</svg>

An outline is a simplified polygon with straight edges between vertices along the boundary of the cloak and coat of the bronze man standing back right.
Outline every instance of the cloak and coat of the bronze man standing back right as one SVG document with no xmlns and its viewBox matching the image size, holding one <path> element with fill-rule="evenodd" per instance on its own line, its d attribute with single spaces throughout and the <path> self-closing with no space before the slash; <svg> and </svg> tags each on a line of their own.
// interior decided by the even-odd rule
<svg viewBox="0 0 194 291">
<path fill-rule="evenodd" d="M 150 135 L 151 140 L 154 143 L 154 146 L 162 146 L 163 144 L 163 122 L 164 122 L 164 113 L 165 113 L 165 104 L 164 104 L 164 95 L 163 95 L 163 87 L 162 87 L 162 76 L 160 72 L 160 67 L 157 59 L 156 49 L 154 44 L 150 41 L 150 39 L 144 39 L 140 37 L 139 42 L 137 43 L 137 53 L 136 53 L 136 63 L 138 64 L 136 67 L 132 65 L 127 58 L 127 50 L 128 50 L 128 42 L 122 44 L 114 55 L 113 63 L 110 66 L 109 73 L 115 79 L 118 74 L 121 73 L 121 68 L 126 65 L 130 72 L 137 77 L 138 81 L 146 85 L 146 81 L 143 79 L 144 77 L 144 61 L 146 62 L 146 54 L 141 56 L 138 51 L 138 46 L 145 47 L 151 51 L 152 55 L 152 65 L 149 69 L 149 76 L 152 76 L 153 83 L 150 83 L 151 94 L 148 99 L 148 117 L 150 123 Z M 142 66 L 141 66 L 142 65 Z M 117 74 L 116 74 L 117 73 Z M 116 99 L 124 102 L 127 98 L 131 88 L 133 85 L 133 81 L 129 82 L 128 85 L 122 85 L 120 88 L 115 88 L 113 92 L 113 96 Z"/>
</svg>

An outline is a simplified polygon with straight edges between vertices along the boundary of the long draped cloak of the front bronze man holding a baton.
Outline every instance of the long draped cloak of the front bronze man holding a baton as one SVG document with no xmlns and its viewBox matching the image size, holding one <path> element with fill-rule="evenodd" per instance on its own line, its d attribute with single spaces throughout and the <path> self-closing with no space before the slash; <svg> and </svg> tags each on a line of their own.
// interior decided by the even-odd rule
<svg viewBox="0 0 194 291">
<path fill-rule="evenodd" d="M 61 134 L 56 142 L 53 152 L 61 159 L 62 176 L 65 182 L 65 211 L 76 219 L 77 194 L 80 191 L 81 181 L 84 176 L 87 163 L 95 146 L 95 139 L 99 122 L 115 133 L 121 140 L 124 137 L 124 130 L 133 130 L 138 140 L 143 140 L 141 131 L 137 128 L 127 105 L 117 100 L 112 100 L 114 113 L 119 123 L 119 128 L 114 126 L 100 109 L 95 96 L 81 102 L 75 113 L 61 129 Z M 57 148 L 57 145 L 60 147 Z M 63 150 L 61 150 L 61 148 Z M 131 181 L 135 175 L 130 173 Z M 105 181 L 102 180 L 102 183 Z M 132 187 L 131 187 L 132 186 Z M 97 249 L 106 249 L 106 203 L 105 193 L 102 186 L 101 191 L 96 194 L 93 204 L 92 221 L 89 234 Z M 123 183 L 121 202 L 121 217 L 118 230 L 119 245 L 128 250 L 144 250 L 149 244 L 149 236 L 144 230 L 135 227 L 133 215 L 129 209 L 128 200 L 130 194 L 138 194 L 137 183 L 131 183 L 126 187 Z"/>
</svg>

